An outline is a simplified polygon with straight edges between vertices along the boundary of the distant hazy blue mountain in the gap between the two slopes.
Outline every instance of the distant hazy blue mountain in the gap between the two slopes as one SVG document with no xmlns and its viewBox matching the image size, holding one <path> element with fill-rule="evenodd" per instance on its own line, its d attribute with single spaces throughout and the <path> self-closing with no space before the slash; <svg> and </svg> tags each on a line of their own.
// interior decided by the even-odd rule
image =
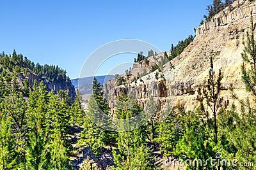
<svg viewBox="0 0 256 170">
<path fill-rule="evenodd" d="M 100 85 L 103 85 L 104 83 L 107 83 L 109 79 L 114 78 L 113 75 L 106 75 L 106 76 L 95 76 L 97 81 L 100 83 Z M 76 78 L 72 79 L 71 82 L 74 85 L 75 89 L 78 88 L 79 83 L 79 91 L 81 94 L 92 94 L 92 81 L 93 76 L 90 77 L 84 77 L 84 78 Z"/>
</svg>

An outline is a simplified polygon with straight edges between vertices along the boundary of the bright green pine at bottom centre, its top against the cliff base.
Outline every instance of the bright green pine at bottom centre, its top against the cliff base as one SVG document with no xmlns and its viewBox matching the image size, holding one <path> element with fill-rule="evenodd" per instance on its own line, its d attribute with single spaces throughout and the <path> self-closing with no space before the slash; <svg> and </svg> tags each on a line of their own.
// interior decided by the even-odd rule
<svg viewBox="0 0 256 170">
<path fill-rule="evenodd" d="M 118 97 L 118 110 L 116 115 L 122 121 L 118 124 L 118 152 L 113 150 L 113 157 L 116 169 L 152 169 L 150 166 L 152 157 L 150 149 L 147 148 L 146 133 L 142 127 L 134 126 L 129 122 L 129 118 L 139 115 L 143 110 L 137 104 L 132 106 L 133 101 L 128 96 L 122 94 Z M 133 129 L 129 131 L 129 129 Z"/>
</svg>

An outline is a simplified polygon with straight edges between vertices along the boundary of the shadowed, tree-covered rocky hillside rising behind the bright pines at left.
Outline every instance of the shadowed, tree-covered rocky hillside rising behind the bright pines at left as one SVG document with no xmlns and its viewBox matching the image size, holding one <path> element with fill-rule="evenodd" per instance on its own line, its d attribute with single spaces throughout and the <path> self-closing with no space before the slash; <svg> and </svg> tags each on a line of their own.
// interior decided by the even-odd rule
<svg viewBox="0 0 256 170">
<path fill-rule="evenodd" d="M 58 66 L 35 64 L 15 50 L 12 55 L 0 54 L 0 73 L 4 81 L 17 81 L 22 89 L 33 90 L 33 84 L 44 81 L 48 91 L 55 94 L 60 90 L 68 90 L 68 96 L 75 99 L 76 91 L 66 71 Z M 6 82 L 7 83 L 7 82 Z M 24 90 L 26 91 L 26 90 Z"/>
</svg>

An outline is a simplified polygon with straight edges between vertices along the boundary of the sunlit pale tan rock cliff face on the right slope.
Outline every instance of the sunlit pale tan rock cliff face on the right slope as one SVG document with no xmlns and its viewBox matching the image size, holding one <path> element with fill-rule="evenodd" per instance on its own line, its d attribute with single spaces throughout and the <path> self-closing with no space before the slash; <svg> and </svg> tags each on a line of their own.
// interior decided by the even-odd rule
<svg viewBox="0 0 256 170">
<path fill-rule="evenodd" d="M 115 80 L 109 81 L 103 89 L 114 108 L 116 97 L 121 92 L 131 94 L 138 99 L 141 106 L 147 106 L 148 97 L 157 97 L 158 111 L 164 109 L 168 100 L 172 106 L 184 106 L 186 111 L 195 110 L 197 89 L 207 80 L 210 56 L 214 56 L 214 70 L 221 69 L 223 73 L 221 96 L 231 103 L 238 104 L 231 97 L 230 83 L 234 85 L 236 94 L 241 98 L 248 97 L 241 80 L 241 65 L 243 59 L 243 41 L 250 27 L 250 11 L 255 17 L 256 3 L 235 1 L 232 6 L 225 8 L 210 22 L 196 29 L 196 37 L 178 57 L 164 65 L 163 77 L 155 78 L 156 72 L 143 76 L 138 81 L 129 83 L 126 87 L 116 86 Z M 169 53 L 168 53 L 169 54 Z M 160 53 L 156 58 L 163 56 Z M 172 68 L 172 69 L 170 69 Z M 138 66 L 136 66 L 138 69 Z"/>
</svg>

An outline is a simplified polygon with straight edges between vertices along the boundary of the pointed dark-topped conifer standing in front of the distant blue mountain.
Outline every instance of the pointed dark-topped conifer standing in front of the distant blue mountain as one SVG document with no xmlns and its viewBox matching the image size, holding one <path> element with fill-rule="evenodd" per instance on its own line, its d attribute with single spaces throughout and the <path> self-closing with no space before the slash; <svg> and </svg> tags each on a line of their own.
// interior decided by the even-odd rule
<svg viewBox="0 0 256 170">
<path fill-rule="evenodd" d="M 94 78 L 93 95 L 88 103 L 86 117 L 84 117 L 84 130 L 81 132 L 79 144 L 89 146 L 95 155 L 100 155 L 101 149 L 107 145 L 113 145 L 116 141 L 116 133 L 102 129 L 104 117 L 109 114 L 108 102 L 100 87 L 100 83 Z M 92 120 L 96 121 L 92 122 Z"/>
</svg>

